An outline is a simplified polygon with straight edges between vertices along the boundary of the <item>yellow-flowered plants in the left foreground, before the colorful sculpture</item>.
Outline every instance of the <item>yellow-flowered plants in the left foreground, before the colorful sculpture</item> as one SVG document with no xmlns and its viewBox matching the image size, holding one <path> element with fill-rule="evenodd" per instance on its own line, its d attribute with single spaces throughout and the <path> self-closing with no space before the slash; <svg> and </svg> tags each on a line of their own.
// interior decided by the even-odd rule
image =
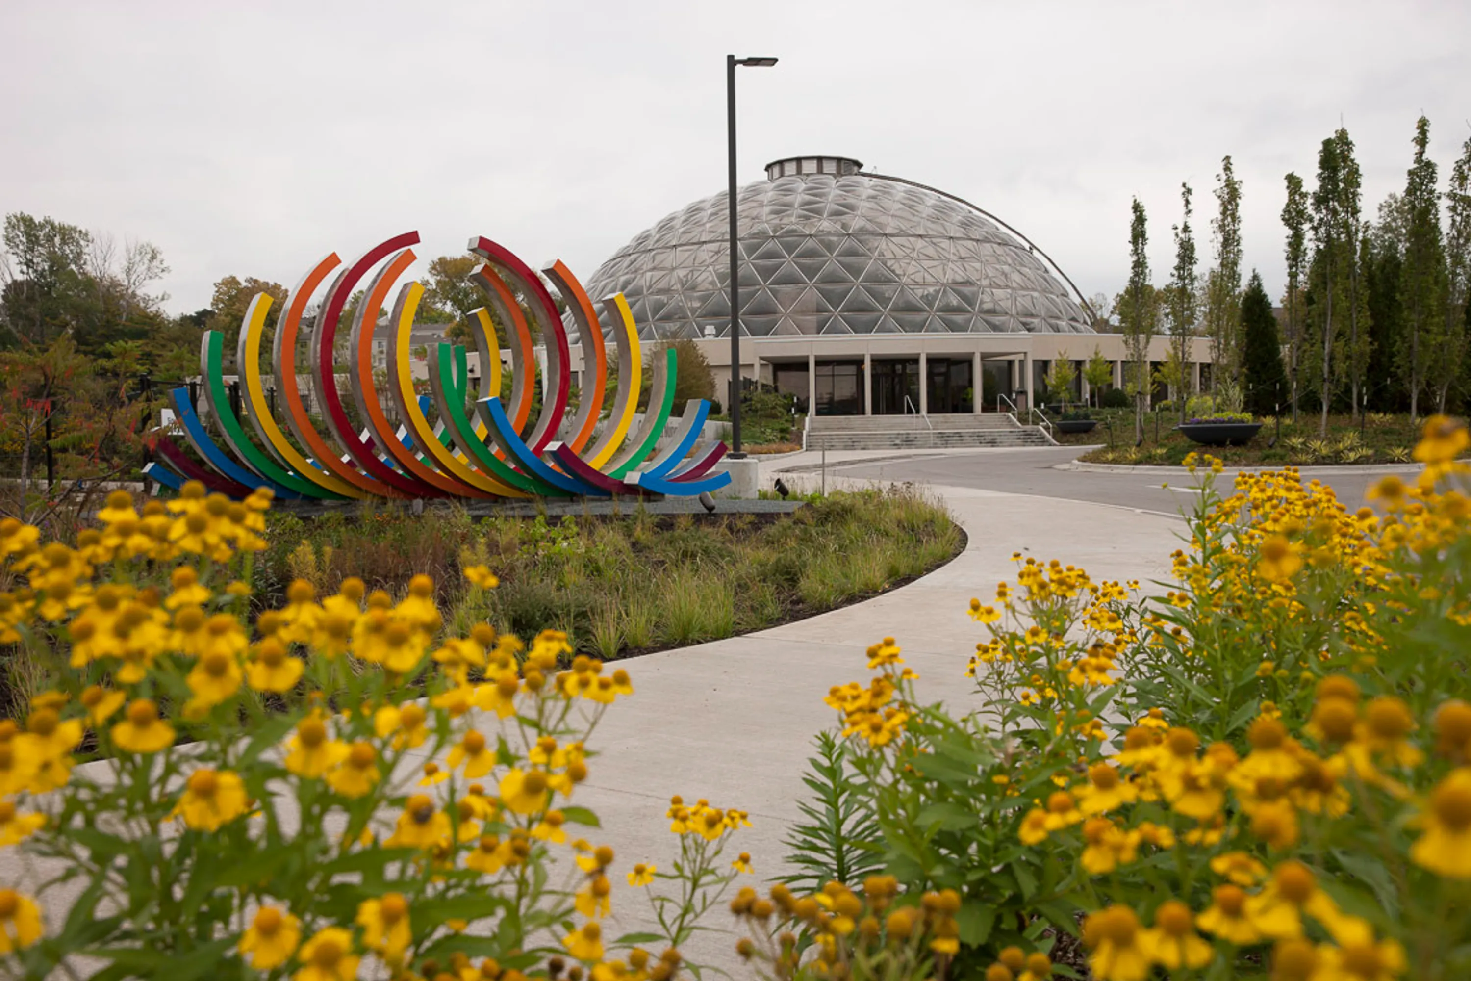
<svg viewBox="0 0 1471 981">
<path fill-rule="evenodd" d="M 424 575 L 397 600 L 297 579 L 252 622 L 268 506 L 188 484 L 138 513 L 113 491 L 75 547 L 0 522 L 21 581 L 0 643 L 50 674 L 24 724 L 0 722 L 0 847 L 41 880 L 0 888 L 0 971 L 672 977 L 697 913 L 750 871 L 721 860 L 749 819 L 675 799 L 674 872 L 630 874 L 659 930 L 603 934 L 615 856 L 577 837 L 599 822 L 574 802 L 628 672 L 558 631 L 447 632 Z M 482 565 L 463 577 L 497 585 Z M 47 932 L 56 896 L 71 909 Z"/>
</svg>

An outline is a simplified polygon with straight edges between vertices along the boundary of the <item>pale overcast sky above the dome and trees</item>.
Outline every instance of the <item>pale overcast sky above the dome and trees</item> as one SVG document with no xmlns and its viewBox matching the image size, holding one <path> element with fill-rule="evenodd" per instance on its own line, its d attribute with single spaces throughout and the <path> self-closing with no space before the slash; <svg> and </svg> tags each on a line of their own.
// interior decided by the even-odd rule
<svg viewBox="0 0 1471 981">
<path fill-rule="evenodd" d="M 855 156 L 1024 231 L 1091 294 L 1128 274 L 1128 203 L 1156 282 L 1178 190 L 1202 271 L 1224 154 L 1246 266 L 1283 282 L 1283 175 L 1312 184 L 1340 121 L 1365 210 L 1400 190 L 1415 118 L 1442 184 L 1471 135 L 1471 3 L 0 3 L 0 212 L 157 244 L 168 309 L 221 277 L 291 285 L 418 229 L 422 260 L 484 234 L 587 281 L 740 179 Z"/>
</svg>

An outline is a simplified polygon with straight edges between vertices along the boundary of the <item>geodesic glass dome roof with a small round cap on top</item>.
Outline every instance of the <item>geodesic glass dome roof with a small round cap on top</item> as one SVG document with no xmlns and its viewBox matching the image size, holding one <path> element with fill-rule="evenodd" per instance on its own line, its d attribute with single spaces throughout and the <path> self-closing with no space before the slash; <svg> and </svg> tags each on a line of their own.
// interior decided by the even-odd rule
<svg viewBox="0 0 1471 981">
<path fill-rule="evenodd" d="M 741 332 L 1090 334 L 1031 247 L 978 209 L 847 157 L 790 157 L 737 191 Z M 725 193 L 634 237 L 593 274 L 640 337 L 728 337 Z"/>
</svg>

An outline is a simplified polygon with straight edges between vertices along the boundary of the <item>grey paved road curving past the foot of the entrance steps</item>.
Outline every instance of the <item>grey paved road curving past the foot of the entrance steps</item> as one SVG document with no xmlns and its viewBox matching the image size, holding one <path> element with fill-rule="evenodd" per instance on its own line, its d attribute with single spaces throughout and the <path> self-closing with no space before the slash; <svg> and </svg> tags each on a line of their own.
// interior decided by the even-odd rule
<svg viewBox="0 0 1471 981">
<path fill-rule="evenodd" d="M 828 466 L 828 472 L 841 477 L 915 481 L 943 487 L 972 487 L 1009 494 L 1086 500 L 1165 515 L 1178 515 L 1183 509 L 1192 507 L 1196 497 L 1194 478 L 1186 477 L 1178 469 L 1161 468 L 1159 474 L 1058 469 L 1058 465 L 1071 462 L 1089 449 L 1091 447 L 972 450 L 868 463 L 858 460 L 833 463 Z M 1408 477 L 1417 471 L 1418 468 L 1411 466 L 1402 474 Z M 1318 478 L 1333 487 L 1346 506 L 1358 507 L 1364 503 L 1364 493 L 1370 484 L 1383 475 L 1384 471 L 1343 472 L 1312 468 L 1303 475 L 1303 479 Z M 1227 477 L 1230 477 L 1230 471 Z"/>
</svg>

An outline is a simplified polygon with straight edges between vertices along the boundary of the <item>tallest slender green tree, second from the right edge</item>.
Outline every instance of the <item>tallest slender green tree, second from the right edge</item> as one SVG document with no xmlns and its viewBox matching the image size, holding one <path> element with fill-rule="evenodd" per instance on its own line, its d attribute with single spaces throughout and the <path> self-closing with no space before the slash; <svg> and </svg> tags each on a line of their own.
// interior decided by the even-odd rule
<svg viewBox="0 0 1471 981">
<path fill-rule="evenodd" d="M 1440 200 L 1436 191 L 1436 162 L 1427 156 L 1430 121 L 1415 122 L 1415 160 L 1405 181 L 1405 260 L 1400 268 L 1400 300 L 1405 304 L 1405 344 L 1400 374 L 1409 390 L 1409 416 L 1420 418 L 1420 394 L 1425 388 L 1430 343 L 1440 327 L 1445 257 L 1440 241 Z"/>
</svg>

